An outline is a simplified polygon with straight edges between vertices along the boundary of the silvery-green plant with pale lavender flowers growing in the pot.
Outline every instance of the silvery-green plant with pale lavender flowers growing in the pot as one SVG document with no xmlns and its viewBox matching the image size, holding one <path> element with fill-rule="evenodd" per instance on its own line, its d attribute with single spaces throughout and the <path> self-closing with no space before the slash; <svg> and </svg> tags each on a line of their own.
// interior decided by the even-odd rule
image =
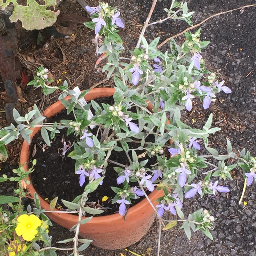
<svg viewBox="0 0 256 256">
<path fill-rule="evenodd" d="M 14 110 L 18 125 L 2 128 L 0 141 L 8 144 L 21 135 L 30 143 L 30 128 L 40 126 L 41 135 L 50 146 L 59 129 L 67 128 L 67 135 L 75 134 L 77 141 L 69 153 L 67 144 L 64 144 L 61 154 L 76 160 L 74 171 L 80 186 L 84 186 L 86 181 L 88 185 L 96 181 L 102 185 L 103 178 L 108 175 L 108 163 L 114 163 L 119 186 L 110 188 L 116 193 L 111 200 L 119 205 L 120 215 L 125 215 L 133 199 L 145 196 L 149 200 L 146 191 L 163 189 L 165 194 L 158 198 L 154 208 L 159 220 L 166 222 L 162 216 L 165 211 L 170 211 L 179 216 L 179 221 L 183 222 L 181 228 L 189 239 L 191 229 L 194 232 L 202 230 L 212 239 L 210 230 L 213 229 L 214 216 L 207 210 L 197 209 L 185 219 L 182 212 L 184 195 L 189 199 L 197 197 L 197 194 L 202 197 L 205 194 L 228 193 L 229 188 L 223 186 L 222 180 L 232 179 L 230 171 L 236 167 L 235 164 L 227 165 L 229 158 L 238 160 L 247 177 L 247 185 L 251 185 L 256 177 L 256 164 L 245 150 L 239 156 L 233 153 L 228 139 L 227 155 L 219 155 L 208 147 L 210 134 L 220 130 L 211 127 L 212 114 L 202 129 L 192 128 L 181 120 L 181 111 L 193 109 L 193 99 L 201 100 L 203 108 L 208 109 L 215 94 L 221 91 L 231 93 L 224 86 L 224 81 L 220 82 L 216 73 L 204 66 L 201 50 L 209 42 L 200 40 L 198 29 L 195 33 L 185 32 L 186 41 L 182 45 L 172 39 L 170 50 L 161 52 L 157 47 L 159 38 L 148 42 L 141 33 L 137 46 L 130 51 L 131 55 L 121 57 L 124 47 L 117 28 L 123 28 L 124 23 L 119 18 L 120 13 L 104 2 L 97 7 L 86 6 L 86 10 L 90 12 L 92 21 L 85 25 L 94 29 L 96 54 L 101 54 L 97 65 L 108 58 L 102 71 L 108 79 L 113 77 L 113 104 L 99 104 L 94 100 L 87 104 L 83 96 L 89 90 L 82 93 L 78 88 L 70 90 L 66 81 L 61 86 L 47 85 L 48 70 L 40 67 L 30 84 L 42 87 L 46 95 L 56 89 L 61 90 L 59 99 L 68 114 L 73 113 L 73 116 L 69 120 L 47 124 L 43 123 L 44 117 L 36 105 L 24 117 Z M 169 19 L 184 19 L 191 25 L 193 12 L 187 12 L 186 3 L 172 1 L 166 11 Z M 67 95 L 71 96 L 69 101 L 64 99 Z M 51 132 L 50 136 L 47 131 Z M 202 147 L 210 154 L 201 155 Z M 125 164 L 110 159 L 113 152 L 121 151 L 127 156 Z M 141 160 L 141 152 L 147 156 L 146 160 Z M 209 162 L 210 157 L 219 160 L 218 165 Z M 148 165 L 150 158 L 153 165 Z M 134 182 L 137 182 L 136 186 Z M 70 211 L 74 210 L 74 203 L 79 209 L 77 200 L 63 203 Z M 79 202 L 82 201 L 80 197 Z M 80 209 L 80 214 L 86 213 L 83 207 Z"/>
</svg>

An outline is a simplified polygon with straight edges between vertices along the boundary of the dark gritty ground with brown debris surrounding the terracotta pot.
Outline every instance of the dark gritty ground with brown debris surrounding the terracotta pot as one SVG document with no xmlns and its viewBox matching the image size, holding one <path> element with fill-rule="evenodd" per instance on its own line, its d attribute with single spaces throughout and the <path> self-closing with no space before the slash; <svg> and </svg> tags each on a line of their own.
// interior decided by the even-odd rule
<svg viewBox="0 0 256 256">
<path fill-rule="evenodd" d="M 112 0 L 112 5 L 118 5 L 122 16 L 125 18 L 126 27 L 123 31 L 126 48 L 134 47 L 138 40 L 139 31 L 143 22 L 146 20 L 147 13 L 151 8 L 151 0 Z M 239 8 L 246 4 L 254 4 L 254 0 L 190 0 L 188 8 L 195 11 L 193 23 L 197 24 L 203 19 L 226 10 Z M 97 1 L 90 1 L 92 6 Z M 152 15 L 152 22 L 164 18 L 163 8 L 169 8 L 170 1 L 159 0 L 156 9 Z M 64 8 L 65 7 L 65 8 Z M 84 10 L 79 4 L 71 3 L 62 7 L 63 12 L 75 12 L 84 15 Z M 61 8 L 61 7 L 60 7 Z M 147 39 L 153 39 L 161 36 L 161 40 L 183 31 L 187 25 L 185 22 L 167 22 L 149 27 L 146 33 Z M 256 85 L 255 85 L 255 63 L 256 63 L 256 8 L 246 8 L 244 12 L 239 10 L 216 16 L 204 23 L 201 30 L 201 37 L 204 40 L 211 41 L 211 44 L 204 49 L 203 57 L 207 66 L 213 71 L 217 71 L 220 80 L 224 79 L 226 85 L 232 90 L 232 94 L 225 95 L 220 93 L 217 100 L 208 111 L 203 111 L 202 104 L 194 103 L 193 114 L 184 115 L 187 124 L 192 122 L 195 127 L 200 127 L 209 114 L 214 114 L 214 125 L 221 127 L 222 130 L 214 134 L 210 141 L 219 153 L 225 154 L 226 138 L 229 138 L 235 152 L 242 148 L 250 150 L 252 155 L 256 154 Z M 94 33 L 84 26 L 78 27 L 74 35 L 68 39 L 51 38 L 43 48 L 31 46 L 34 43 L 35 35 L 25 33 L 23 29 L 19 31 L 20 59 L 23 69 L 30 76 L 33 76 L 35 67 L 43 64 L 49 68 L 54 80 L 68 80 L 73 88 L 79 86 L 81 89 L 96 85 L 105 78 L 100 68 L 95 69 L 94 56 L 95 47 L 91 44 Z M 195 30 L 192 30 L 195 31 Z M 177 41 L 182 40 L 178 37 Z M 28 44 L 28 41 L 31 41 Z M 28 46 L 29 45 L 29 46 Z M 163 46 L 166 47 L 166 46 Z M 67 73 L 65 73 L 67 72 Z M 109 86 L 111 81 L 104 82 L 100 86 Z M 3 91 L 3 89 L 1 89 Z M 57 99 L 51 98 L 44 100 L 39 91 L 26 89 L 22 91 L 23 111 L 35 102 L 45 109 L 49 104 Z M 43 100 L 42 100 L 43 99 Z M 1 94 L 1 104 L 4 107 L 4 94 Z M 27 102 L 25 102 L 25 100 Z M 194 119 L 194 120 L 193 120 Z M 0 125 L 3 126 L 4 116 L 0 119 Z M 22 140 L 20 140 L 22 142 Z M 10 160 L 2 165 L 3 173 L 11 175 L 11 169 L 17 167 L 18 153 L 20 143 L 8 146 Z M 220 194 L 219 198 L 210 199 L 195 197 L 184 201 L 184 213 L 191 213 L 199 208 L 211 210 L 211 214 L 217 217 L 214 231 L 212 231 L 213 240 L 205 237 L 201 232 L 195 233 L 188 241 L 183 230 L 176 226 L 168 231 L 161 233 L 161 256 L 179 255 L 179 256 L 255 256 L 256 255 L 256 206 L 255 206 L 255 183 L 246 189 L 244 202 L 247 204 L 238 204 L 242 193 L 243 175 L 239 169 L 233 172 L 233 181 L 226 184 L 230 188 L 230 193 Z M 5 183 L 0 184 L 0 194 L 9 194 L 14 185 Z M 172 216 L 164 216 L 172 218 Z M 72 237 L 65 228 L 54 226 L 49 230 L 53 236 L 53 246 L 59 246 L 56 241 Z M 146 236 L 128 249 L 145 256 L 155 256 L 157 254 L 158 241 L 158 223 L 154 222 Z M 89 246 L 83 253 L 88 256 L 120 256 L 132 255 L 125 250 L 108 251 Z M 63 252 L 58 255 L 67 255 Z"/>
</svg>

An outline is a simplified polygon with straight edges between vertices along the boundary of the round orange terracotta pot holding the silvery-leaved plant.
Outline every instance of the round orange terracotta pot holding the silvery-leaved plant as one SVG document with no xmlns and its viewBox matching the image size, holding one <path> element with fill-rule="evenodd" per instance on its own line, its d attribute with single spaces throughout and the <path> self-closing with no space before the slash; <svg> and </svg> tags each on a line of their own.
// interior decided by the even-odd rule
<svg viewBox="0 0 256 256">
<path fill-rule="evenodd" d="M 84 97 L 86 101 L 100 97 L 112 96 L 115 92 L 114 88 L 96 88 L 91 89 L 90 92 Z M 67 97 L 68 100 L 70 97 Z M 151 105 L 152 106 L 152 105 Z M 149 106 L 149 108 L 151 108 Z M 65 107 L 61 101 L 55 102 L 47 108 L 43 115 L 51 117 L 64 110 Z M 34 128 L 31 138 L 40 130 Z M 24 165 L 24 169 L 28 170 L 29 162 L 29 145 L 26 141 L 23 142 L 22 150 L 20 153 L 20 164 Z M 29 178 L 28 178 L 29 179 Z M 34 197 L 35 189 L 33 184 L 27 186 L 29 194 Z M 37 193 L 38 194 L 38 193 Z M 155 200 L 163 196 L 163 190 L 154 190 L 149 198 L 154 205 Z M 49 204 L 40 197 L 42 209 L 50 211 Z M 58 211 L 56 208 L 54 211 Z M 46 213 L 46 215 L 57 224 L 70 229 L 77 223 L 78 217 L 68 213 Z M 83 217 L 84 218 L 84 217 Z M 93 217 L 91 221 L 80 226 L 80 235 L 86 239 L 93 240 L 93 245 L 104 249 L 120 249 L 132 245 L 139 241 L 150 229 L 155 218 L 155 212 L 147 199 L 130 207 L 126 215 L 126 220 L 119 213 L 111 214 L 108 216 Z"/>
</svg>

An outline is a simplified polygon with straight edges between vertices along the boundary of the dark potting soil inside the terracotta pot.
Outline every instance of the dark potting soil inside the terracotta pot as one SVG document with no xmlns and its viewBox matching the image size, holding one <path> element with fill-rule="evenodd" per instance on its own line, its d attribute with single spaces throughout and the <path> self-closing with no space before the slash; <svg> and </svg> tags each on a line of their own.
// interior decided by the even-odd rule
<svg viewBox="0 0 256 256">
<path fill-rule="evenodd" d="M 100 98 L 95 100 L 98 104 L 102 101 L 104 103 L 113 103 L 113 97 L 110 98 Z M 89 103 L 89 101 L 88 101 Z M 93 114 L 94 109 L 91 108 Z M 74 120 L 73 114 L 67 115 L 66 110 L 47 119 L 47 123 L 59 122 L 62 119 Z M 98 127 L 91 129 L 91 132 L 96 135 Z M 67 129 L 60 129 L 60 133 L 57 133 L 55 138 L 52 140 L 51 147 L 47 146 L 42 137 L 41 133 L 38 132 L 32 139 L 30 145 L 30 166 L 33 159 L 37 159 L 37 164 L 35 165 L 35 170 L 31 173 L 31 180 L 35 190 L 38 194 L 44 198 L 46 201 L 52 200 L 58 196 L 57 207 L 63 207 L 66 209 L 65 205 L 62 204 L 61 199 L 72 201 L 76 196 L 81 195 L 84 191 L 85 186 L 88 184 L 88 178 L 84 185 L 81 187 L 79 184 L 80 175 L 75 174 L 75 159 L 68 157 L 67 155 L 73 150 L 73 147 L 66 153 L 66 156 L 61 156 L 63 148 L 62 140 L 73 144 L 77 141 L 77 138 L 71 134 L 67 136 Z M 148 141 L 152 138 L 147 137 Z M 100 140 L 100 138 L 98 138 Z M 137 148 L 138 143 L 129 142 L 129 148 Z M 122 147 L 121 145 L 118 145 Z M 34 150 L 36 148 L 36 151 Z M 44 149 L 43 149 L 44 148 Z M 141 154 L 143 151 L 137 151 L 137 154 Z M 129 152 L 131 157 L 131 152 Z M 116 152 L 112 151 L 109 158 L 112 161 L 122 163 L 123 165 L 129 165 L 129 160 L 127 159 L 126 153 L 124 151 Z M 148 159 L 147 166 L 150 168 L 152 164 L 155 163 L 156 157 L 148 158 L 147 156 L 141 158 L 141 160 Z M 117 165 L 113 163 L 108 163 L 106 167 L 105 177 L 103 179 L 103 184 L 100 185 L 94 193 L 88 195 L 87 206 L 98 208 L 104 210 L 104 212 L 97 216 L 104 216 L 118 212 L 119 204 L 112 204 L 112 199 L 115 197 L 115 192 L 111 189 L 111 186 L 123 188 L 123 184 L 118 185 L 116 178 L 118 173 L 113 169 Z M 131 186 L 138 186 L 138 183 L 130 183 Z M 104 196 L 109 197 L 107 201 L 102 202 Z M 137 200 L 131 200 L 132 206 L 140 202 L 144 197 Z M 59 208 L 60 208 L 59 207 Z M 61 209 L 61 208 L 60 208 Z"/>
</svg>

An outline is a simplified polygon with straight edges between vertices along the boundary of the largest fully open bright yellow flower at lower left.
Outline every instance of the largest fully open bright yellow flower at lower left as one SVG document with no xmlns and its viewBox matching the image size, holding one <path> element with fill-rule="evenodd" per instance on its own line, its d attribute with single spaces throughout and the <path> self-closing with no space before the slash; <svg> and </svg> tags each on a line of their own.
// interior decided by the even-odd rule
<svg viewBox="0 0 256 256">
<path fill-rule="evenodd" d="M 15 231 L 18 236 L 22 236 L 24 240 L 31 241 L 35 238 L 38 233 L 37 228 L 41 226 L 41 221 L 39 217 L 31 214 L 20 215 L 17 219 L 18 225 L 15 228 Z"/>
</svg>

